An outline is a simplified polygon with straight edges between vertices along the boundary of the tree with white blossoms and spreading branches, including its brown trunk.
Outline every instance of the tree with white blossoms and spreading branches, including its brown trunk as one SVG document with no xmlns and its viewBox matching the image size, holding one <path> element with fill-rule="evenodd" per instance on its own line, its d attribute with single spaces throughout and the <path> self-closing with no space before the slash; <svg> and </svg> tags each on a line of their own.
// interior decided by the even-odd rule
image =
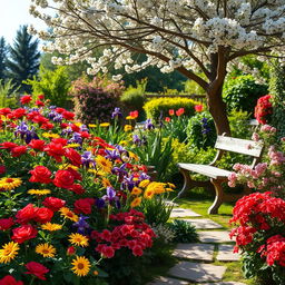
<svg viewBox="0 0 285 285">
<path fill-rule="evenodd" d="M 218 134 L 230 132 L 222 88 L 229 62 L 246 55 L 281 55 L 285 37 L 284 0 L 31 0 L 30 12 L 52 28 L 31 33 L 52 41 L 46 51 L 68 57 L 57 65 L 87 60 L 89 73 L 126 72 L 157 66 L 177 70 L 207 94 Z M 51 3 L 52 2 L 52 3 Z M 52 8 L 57 17 L 43 11 Z M 105 48 L 99 58 L 92 51 Z M 277 52 L 277 53 L 276 53 Z M 132 53 L 144 53 L 140 63 Z M 137 58 L 138 59 L 138 58 Z M 203 71 L 206 79 L 197 76 Z M 114 76 L 120 79 L 121 75 Z"/>
</svg>

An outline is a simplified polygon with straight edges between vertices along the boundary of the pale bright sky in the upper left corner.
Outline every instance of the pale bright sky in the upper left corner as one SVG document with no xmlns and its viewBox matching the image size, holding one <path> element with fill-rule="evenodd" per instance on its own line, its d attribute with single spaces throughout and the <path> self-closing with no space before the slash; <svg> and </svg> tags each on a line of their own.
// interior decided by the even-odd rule
<svg viewBox="0 0 285 285">
<path fill-rule="evenodd" d="M 12 45 L 17 30 L 23 24 L 33 24 L 46 30 L 46 24 L 29 13 L 30 0 L 0 0 L 0 37 Z"/>
</svg>

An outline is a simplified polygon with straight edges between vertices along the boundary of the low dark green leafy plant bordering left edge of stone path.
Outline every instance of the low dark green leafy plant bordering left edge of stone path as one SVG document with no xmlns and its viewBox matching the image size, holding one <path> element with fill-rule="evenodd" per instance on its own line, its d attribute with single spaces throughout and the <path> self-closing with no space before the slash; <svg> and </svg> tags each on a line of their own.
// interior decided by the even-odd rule
<svg viewBox="0 0 285 285">
<path fill-rule="evenodd" d="M 170 225 L 176 243 L 196 243 L 199 240 L 195 226 L 183 219 L 175 219 Z"/>
</svg>

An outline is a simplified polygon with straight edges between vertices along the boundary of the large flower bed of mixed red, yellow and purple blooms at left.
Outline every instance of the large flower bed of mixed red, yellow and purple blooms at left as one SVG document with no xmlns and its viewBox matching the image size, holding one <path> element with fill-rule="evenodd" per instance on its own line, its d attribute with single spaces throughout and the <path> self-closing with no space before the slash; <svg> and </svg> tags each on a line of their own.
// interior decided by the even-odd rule
<svg viewBox="0 0 285 285">
<path fill-rule="evenodd" d="M 92 135 L 73 112 L 43 96 L 21 104 L 0 109 L 0 278 L 96 284 L 112 253 L 151 247 L 155 234 L 134 208 L 168 188 L 148 195 L 136 156 Z"/>
</svg>

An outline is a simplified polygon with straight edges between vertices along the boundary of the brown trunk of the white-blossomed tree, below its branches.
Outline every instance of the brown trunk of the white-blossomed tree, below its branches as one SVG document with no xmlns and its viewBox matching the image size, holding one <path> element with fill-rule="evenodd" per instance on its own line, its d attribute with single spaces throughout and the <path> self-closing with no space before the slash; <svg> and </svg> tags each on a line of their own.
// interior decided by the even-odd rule
<svg viewBox="0 0 285 285">
<path fill-rule="evenodd" d="M 208 90 L 207 92 L 207 105 L 209 112 L 215 121 L 215 127 L 218 135 L 226 132 L 230 136 L 230 128 L 227 118 L 226 104 L 223 101 L 222 88 L 218 90 Z"/>
</svg>

